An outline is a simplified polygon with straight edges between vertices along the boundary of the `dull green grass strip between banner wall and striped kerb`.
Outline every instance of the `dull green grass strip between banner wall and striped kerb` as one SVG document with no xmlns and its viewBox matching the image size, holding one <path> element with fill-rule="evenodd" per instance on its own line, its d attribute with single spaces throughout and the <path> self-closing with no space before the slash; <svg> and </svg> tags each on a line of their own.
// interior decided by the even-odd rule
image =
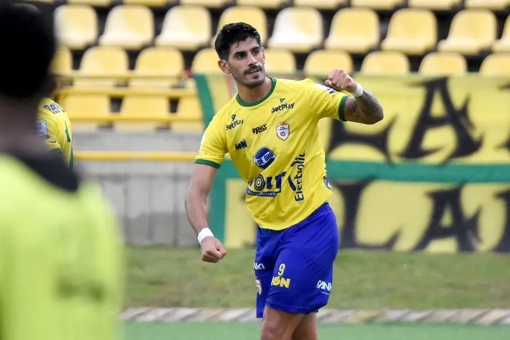
<svg viewBox="0 0 510 340">
<path fill-rule="evenodd" d="M 253 307 L 252 249 L 218 264 L 198 248 L 127 249 L 127 307 Z M 510 256 L 341 251 L 330 308 L 508 308 Z M 183 326 L 185 327 L 185 326 Z"/>
</svg>

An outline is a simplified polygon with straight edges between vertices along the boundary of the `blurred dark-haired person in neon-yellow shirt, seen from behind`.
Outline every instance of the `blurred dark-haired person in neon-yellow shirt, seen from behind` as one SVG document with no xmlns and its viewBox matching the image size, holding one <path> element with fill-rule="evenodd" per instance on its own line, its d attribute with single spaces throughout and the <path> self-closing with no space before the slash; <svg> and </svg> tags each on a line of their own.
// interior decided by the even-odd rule
<svg viewBox="0 0 510 340">
<path fill-rule="evenodd" d="M 0 3 L 0 338 L 112 340 L 123 303 L 118 225 L 99 188 L 36 129 L 52 13 Z"/>
</svg>

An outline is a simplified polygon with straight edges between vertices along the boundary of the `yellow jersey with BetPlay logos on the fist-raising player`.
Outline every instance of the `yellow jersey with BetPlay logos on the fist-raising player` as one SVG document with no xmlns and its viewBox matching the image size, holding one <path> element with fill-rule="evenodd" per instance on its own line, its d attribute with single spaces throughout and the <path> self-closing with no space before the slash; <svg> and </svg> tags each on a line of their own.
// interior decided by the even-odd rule
<svg viewBox="0 0 510 340">
<path fill-rule="evenodd" d="M 344 120 L 347 95 L 309 79 L 272 78 L 269 93 L 234 96 L 211 120 L 195 163 L 219 168 L 228 152 L 246 181 L 246 206 L 261 227 L 282 230 L 310 216 L 333 193 L 319 119 Z"/>
</svg>

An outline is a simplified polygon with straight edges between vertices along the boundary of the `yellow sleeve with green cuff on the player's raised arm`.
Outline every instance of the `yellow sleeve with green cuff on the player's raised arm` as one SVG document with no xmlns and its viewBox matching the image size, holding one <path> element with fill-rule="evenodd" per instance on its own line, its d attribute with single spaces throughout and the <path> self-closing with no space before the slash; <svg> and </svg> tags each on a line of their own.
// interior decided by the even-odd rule
<svg viewBox="0 0 510 340">
<path fill-rule="evenodd" d="M 309 79 L 304 83 L 306 87 L 304 97 L 311 103 L 312 110 L 318 119 L 333 118 L 345 121 L 344 104 L 348 95 L 325 85 L 313 83 Z"/>
</svg>

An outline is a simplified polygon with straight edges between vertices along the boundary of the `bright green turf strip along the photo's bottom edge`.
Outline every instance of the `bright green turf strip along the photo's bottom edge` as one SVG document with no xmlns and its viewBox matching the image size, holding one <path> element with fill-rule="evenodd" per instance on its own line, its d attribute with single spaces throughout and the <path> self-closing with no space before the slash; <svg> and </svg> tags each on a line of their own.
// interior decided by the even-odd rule
<svg viewBox="0 0 510 340">
<path fill-rule="evenodd" d="M 125 340 L 259 340 L 260 325 L 128 323 Z M 320 340 L 507 340 L 510 327 L 475 325 L 320 325 Z"/>
</svg>

